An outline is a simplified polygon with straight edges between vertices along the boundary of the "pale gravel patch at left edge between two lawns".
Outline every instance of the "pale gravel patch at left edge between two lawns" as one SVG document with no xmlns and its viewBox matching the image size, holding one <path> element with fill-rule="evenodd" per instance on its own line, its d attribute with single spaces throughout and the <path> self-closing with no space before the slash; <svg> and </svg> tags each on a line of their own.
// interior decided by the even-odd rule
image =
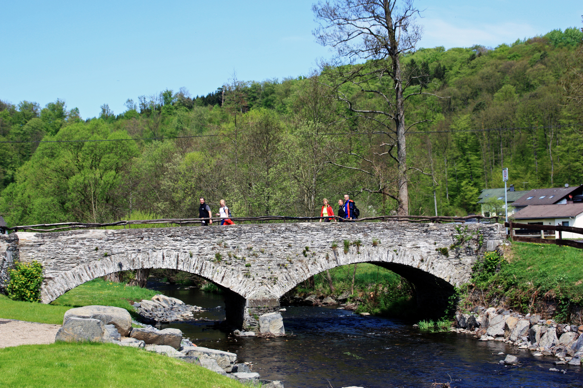
<svg viewBox="0 0 583 388">
<path fill-rule="evenodd" d="M 0 348 L 29 344 L 52 344 L 61 325 L 0 318 Z"/>
</svg>

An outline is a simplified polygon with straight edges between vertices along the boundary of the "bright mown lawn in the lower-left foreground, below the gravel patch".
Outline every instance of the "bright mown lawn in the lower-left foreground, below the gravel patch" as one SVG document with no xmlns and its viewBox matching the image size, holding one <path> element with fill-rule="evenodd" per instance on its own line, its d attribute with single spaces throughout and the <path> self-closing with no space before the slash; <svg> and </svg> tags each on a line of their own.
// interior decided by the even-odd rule
<svg viewBox="0 0 583 388">
<path fill-rule="evenodd" d="M 241 388 L 201 366 L 116 344 L 64 343 L 0 349 L 1 387 Z"/>
</svg>

